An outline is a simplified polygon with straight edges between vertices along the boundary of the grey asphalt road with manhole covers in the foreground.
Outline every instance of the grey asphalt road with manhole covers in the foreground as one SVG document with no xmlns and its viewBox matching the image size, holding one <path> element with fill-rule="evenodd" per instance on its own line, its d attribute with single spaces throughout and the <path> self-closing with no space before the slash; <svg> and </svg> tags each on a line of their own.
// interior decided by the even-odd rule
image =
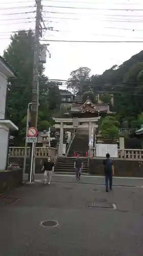
<svg viewBox="0 0 143 256">
<path fill-rule="evenodd" d="M 0 255 L 142 256 L 143 188 L 115 186 L 106 193 L 88 178 L 68 179 L 25 184 L 0 198 Z M 41 227 L 44 220 L 59 225 Z"/>
</svg>

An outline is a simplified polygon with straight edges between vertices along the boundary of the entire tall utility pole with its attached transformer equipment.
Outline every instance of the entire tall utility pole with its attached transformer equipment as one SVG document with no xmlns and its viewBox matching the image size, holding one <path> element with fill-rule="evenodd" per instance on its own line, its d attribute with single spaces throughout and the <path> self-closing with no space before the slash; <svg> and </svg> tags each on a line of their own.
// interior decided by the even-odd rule
<svg viewBox="0 0 143 256">
<path fill-rule="evenodd" d="M 33 58 L 33 81 L 32 81 L 32 108 L 31 108 L 31 126 L 37 129 L 38 121 L 38 106 L 39 106 L 39 63 L 46 63 L 46 51 L 47 47 L 43 45 L 45 53 L 41 55 L 40 37 L 42 37 L 43 29 L 50 30 L 51 28 L 46 28 L 44 20 L 42 17 L 42 0 L 36 0 L 36 26 L 35 26 L 35 40 L 34 40 L 34 58 Z M 44 28 L 42 27 L 43 24 Z M 49 52 L 49 51 L 48 51 Z M 49 53 L 50 55 L 50 53 Z M 36 143 L 33 143 L 31 147 L 31 178 L 35 174 L 35 152 Z M 26 151 L 25 151 L 26 159 Z M 24 160 L 24 166 L 26 165 L 26 160 Z M 24 167 L 25 169 L 25 167 Z"/>
</svg>

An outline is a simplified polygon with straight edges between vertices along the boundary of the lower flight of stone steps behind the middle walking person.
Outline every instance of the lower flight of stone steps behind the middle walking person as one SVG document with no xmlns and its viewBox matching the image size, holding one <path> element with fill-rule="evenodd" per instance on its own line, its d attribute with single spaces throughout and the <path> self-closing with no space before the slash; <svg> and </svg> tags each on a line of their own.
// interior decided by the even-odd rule
<svg viewBox="0 0 143 256">
<path fill-rule="evenodd" d="M 81 158 L 83 162 L 83 170 L 82 172 L 88 172 L 88 158 Z M 60 157 L 55 164 L 55 172 L 59 173 L 72 173 L 75 172 L 74 169 L 74 161 L 73 157 Z"/>
</svg>

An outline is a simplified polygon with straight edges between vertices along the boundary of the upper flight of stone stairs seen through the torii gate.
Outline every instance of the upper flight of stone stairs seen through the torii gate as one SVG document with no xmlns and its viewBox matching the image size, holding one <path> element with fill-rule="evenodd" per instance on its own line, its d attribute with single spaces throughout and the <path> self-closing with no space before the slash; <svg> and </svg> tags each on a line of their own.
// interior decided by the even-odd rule
<svg viewBox="0 0 143 256">
<path fill-rule="evenodd" d="M 89 136 L 77 134 L 71 144 L 68 157 L 74 157 L 74 152 L 79 154 L 80 157 L 86 157 L 89 151 Z"/>
</svg>

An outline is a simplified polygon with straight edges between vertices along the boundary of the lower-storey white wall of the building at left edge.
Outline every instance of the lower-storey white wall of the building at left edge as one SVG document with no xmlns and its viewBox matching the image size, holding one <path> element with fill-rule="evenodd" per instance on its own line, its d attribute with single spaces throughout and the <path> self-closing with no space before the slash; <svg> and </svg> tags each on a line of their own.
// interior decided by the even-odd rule
<svg viewBox="0 0 143 256">
<path fill-rule="evenodd" d="M 0 125 L 0 170 L 6 169 L 9 132 Z"/>
</svg>

